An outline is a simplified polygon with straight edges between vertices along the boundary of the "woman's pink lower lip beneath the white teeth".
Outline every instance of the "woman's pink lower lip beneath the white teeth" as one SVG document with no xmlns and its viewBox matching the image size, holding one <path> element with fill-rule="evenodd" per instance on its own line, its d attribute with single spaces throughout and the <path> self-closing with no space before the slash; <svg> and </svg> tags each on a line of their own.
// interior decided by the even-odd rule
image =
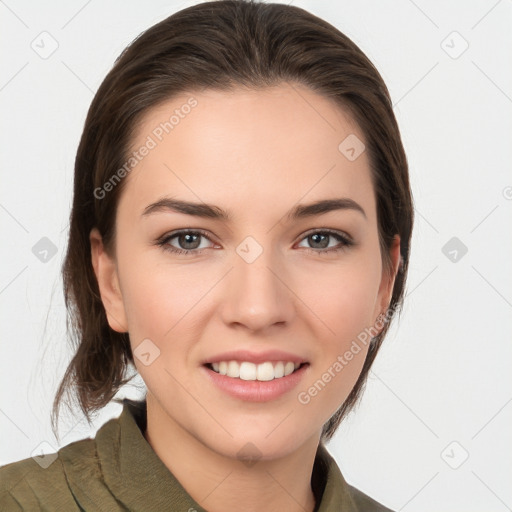
<svg viewBox="0 0 512 512">
<path fill-rule="evenodd" d="M 288 393 L 299 384 L 308 368 L 309 364 L 305 364 L 286 377 L 259 381 L 228 377 L 202 366 L 202 370 L 219 389 L 247 402 L 268 402 Z"/>
</svg>

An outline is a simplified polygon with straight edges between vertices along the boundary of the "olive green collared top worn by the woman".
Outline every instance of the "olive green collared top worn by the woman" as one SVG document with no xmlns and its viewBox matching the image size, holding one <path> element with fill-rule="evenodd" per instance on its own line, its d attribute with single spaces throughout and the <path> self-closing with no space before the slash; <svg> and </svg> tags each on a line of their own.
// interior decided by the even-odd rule
<svg viewBox="0 0 512 512">
<path fill-rule="evenodd" d="M 205 512 L 146 441 L 146 402 L 123 400 L 94 439 L 0 468 L 0 510 Z M 49 465 L 48 465 L 49 464 Z M 320 444 L 311 477 L 315 512 L 390 512 L 348 485 Z"/>
</svg>

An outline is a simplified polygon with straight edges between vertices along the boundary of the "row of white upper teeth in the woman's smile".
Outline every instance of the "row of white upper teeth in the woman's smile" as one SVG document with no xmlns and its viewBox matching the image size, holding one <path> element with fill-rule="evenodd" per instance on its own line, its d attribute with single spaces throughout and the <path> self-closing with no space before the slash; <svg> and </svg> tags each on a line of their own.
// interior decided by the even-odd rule
<svg viewBox="0 0 512 512">
<path fill-rule="evenodd" d="M 238 361 L 212 363 L 213 370 L 220 375 L 227 375 L 234 379 L 259 381 L 280 379 L 293 373 L 299 366 L 300 363 L 293 363 L 291 361 L 279 361 L 278 363 L 267 361 L 261 364 L 248 361 L 243 361 L 242 363 L 238 363 Z"/>
</svg>

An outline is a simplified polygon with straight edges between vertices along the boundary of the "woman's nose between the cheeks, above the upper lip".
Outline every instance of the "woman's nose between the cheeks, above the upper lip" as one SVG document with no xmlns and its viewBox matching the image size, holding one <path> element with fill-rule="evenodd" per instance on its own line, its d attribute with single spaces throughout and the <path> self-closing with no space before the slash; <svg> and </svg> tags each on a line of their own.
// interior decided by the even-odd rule
<svg viewBox="0 0 512 512">
<path fill-rule="evenodd" d="M 295 306 L 284 262 L 270 250 L 264 250 L 254 261 L 239 254 L 234 255 L 221 299 L 225 324 L 256 332 L 289 323 Z"/>
</svg>

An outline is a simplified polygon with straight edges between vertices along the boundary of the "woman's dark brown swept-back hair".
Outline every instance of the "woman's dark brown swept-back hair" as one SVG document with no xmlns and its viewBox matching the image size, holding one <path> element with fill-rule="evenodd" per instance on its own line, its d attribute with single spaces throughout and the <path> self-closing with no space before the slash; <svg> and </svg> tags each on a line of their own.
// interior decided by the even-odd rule
<svg viewBox="0 0 512 512">
<path fill-rule="evenodd" d="M 389 92 L 364 53 L 326 21 L 294 6 L 219 0 L 179 11 L 137 37 L 119 56 L 89 108 L 75 161 L 69 243 L 63 264 L 68 331 L 75 348 L 53 404 L 54 432 L 64 393 L 90 421 L 127 383 L 133 355 L 127 333 L 107 322 L 91 263 L 89 233 L 97 227 L 114 254 L 122 180 L 102 187 L 127 160 L 142 116 L 184 91 L 259 88 L 282 82 L 309 87 L 351 113 L 365 135 L 377 202 L 383 266 L 400 235 L 401 264 L 390 310 L 401 309 L 413 225 L 407 160 Z M 370 344 L 347 400 L 324 425 L 330 439 L 357 402 L 391 322 Z"/>
</svg>

